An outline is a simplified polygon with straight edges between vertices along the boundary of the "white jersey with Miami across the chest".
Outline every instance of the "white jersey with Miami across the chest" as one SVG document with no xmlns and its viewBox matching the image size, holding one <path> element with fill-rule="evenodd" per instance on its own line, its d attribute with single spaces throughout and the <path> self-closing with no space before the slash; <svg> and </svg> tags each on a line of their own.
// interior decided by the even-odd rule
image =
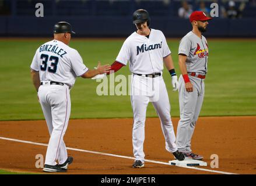
<svg viewBox="0 0 256 186">
<path fill-rule="evenodd" d="M 153 74 L 163 70 L 163 58 L 170 55 L 166 38 L 160 30 L 151 29 L 149 38 L 132 33 L 125 40 L 117 61 L 127 65 L 135 74 Z"/>
</svg>

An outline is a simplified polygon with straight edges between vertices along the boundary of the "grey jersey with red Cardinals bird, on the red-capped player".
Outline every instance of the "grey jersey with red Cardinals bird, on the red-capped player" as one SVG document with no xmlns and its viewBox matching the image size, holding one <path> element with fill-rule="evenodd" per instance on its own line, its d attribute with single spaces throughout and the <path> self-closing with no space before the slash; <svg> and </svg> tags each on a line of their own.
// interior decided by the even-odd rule
<svg viewBox="0 0 256 186">
<path fill-rule="evenodd" d="M 188 56 L 186 60 L 187 71 L 206 74 L 208 62 L 208 44 L 204 35 L 199 38 L 192 31 L 185 35 L 180 41 L 178 54 Z"/>
</svg>

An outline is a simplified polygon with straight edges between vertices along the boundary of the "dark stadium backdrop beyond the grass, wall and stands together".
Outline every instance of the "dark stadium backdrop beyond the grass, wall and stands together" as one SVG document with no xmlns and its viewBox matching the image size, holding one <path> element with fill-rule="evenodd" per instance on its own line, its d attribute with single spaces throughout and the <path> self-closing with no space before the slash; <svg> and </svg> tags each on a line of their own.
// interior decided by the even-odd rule
<svg viewBox="0 0 256 186">
<path fill-rule="evenodd" d="M 38 2 L 44 5 L 44 17 L 35 16 L 35 5 Z M 199 8 L 200 2 L 188 1 L 193 10 Z M 214 27 L 209 29 L 206 36 L 256 36 L 256 26 L 251 24 L 256 19 L 255 0 L 235 1 L 235 8 L 242 9 L 238 19 L 222 18 L 222 10 L 228 10 L 229 1 L 204 2 L 208 9 L 212 2 L 217 2 L 220 16 L 212 20 Z M 1 0 L 0 3 L 0 34 L 3 36 L 51 36 L 49 28 L 52 24 L 66 20 L 76 28 L 78 37 L 127 37 L 134 31 L 131 15 L 140 8 L 149 11 L 152 27 L 162 30 L 167 37 L 182 37 L 190 30 L 190 23 L 178 17 L 181 1 L 177 0 Z"/>
</svg>

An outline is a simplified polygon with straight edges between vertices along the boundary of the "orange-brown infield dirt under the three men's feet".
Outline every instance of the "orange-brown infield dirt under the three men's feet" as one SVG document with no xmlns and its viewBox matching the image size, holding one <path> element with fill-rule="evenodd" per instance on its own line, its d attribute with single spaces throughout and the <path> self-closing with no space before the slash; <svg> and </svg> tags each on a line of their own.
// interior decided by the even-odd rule
<svg viewBox="0 0 256 186">
<path fill-rule="evenodd" d="M 178 118 L 173 119 L 177 130 Z M 192 138 L 192 149 L 204 155 L 204 169 L 238 174 L 256 173 L 256 117 L 200 117 Z M 1 121 L 0 137 L 48 144 L 49 134 L 44 120 Z M 70 120 L 65 134 L 66 146 L 132 155 L 132 119 Z M 43 173 L 35 166 L 37 154 L 45 156 L 47 147 L 0 139 L 0 169 Z M 166 151 L 158 118 L 145 124 L 144 152 L 146 159 L 169 162 L 173 156 Z M 185 169 L 145 162 L 143 169 L 133 169 L 134 160 L 68 150 L 74 158 L 67 174 L 212 174 L 208 171 Z M 219 168 L 212 169 L 211 155 L 219 157 Z"/>
</svg>

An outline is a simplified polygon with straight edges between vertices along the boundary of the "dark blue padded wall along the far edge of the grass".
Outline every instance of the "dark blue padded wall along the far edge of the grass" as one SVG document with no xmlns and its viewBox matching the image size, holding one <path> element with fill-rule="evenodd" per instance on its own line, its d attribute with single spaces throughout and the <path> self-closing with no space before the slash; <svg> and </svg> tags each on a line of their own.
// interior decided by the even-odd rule
<svg viewBox="0 0 256 186">
<path fill-rule="evenodd" d="M 188 20 L 178 18 L 151 17 L 151 27 L 162 30 L 166 37 L 183 37 L 191 30 Z M 0 16 L 0 35 L 2 37 L 50 37 L 56 22 L 72 24 L 75 37 L 127 37 L 135 26 L 131 17 L 90 16 L 90 17 L 31 17 Z M 208 37 L 256 37 L 256 19 L 219 19 L 209 22 Z"/>
</svg>

